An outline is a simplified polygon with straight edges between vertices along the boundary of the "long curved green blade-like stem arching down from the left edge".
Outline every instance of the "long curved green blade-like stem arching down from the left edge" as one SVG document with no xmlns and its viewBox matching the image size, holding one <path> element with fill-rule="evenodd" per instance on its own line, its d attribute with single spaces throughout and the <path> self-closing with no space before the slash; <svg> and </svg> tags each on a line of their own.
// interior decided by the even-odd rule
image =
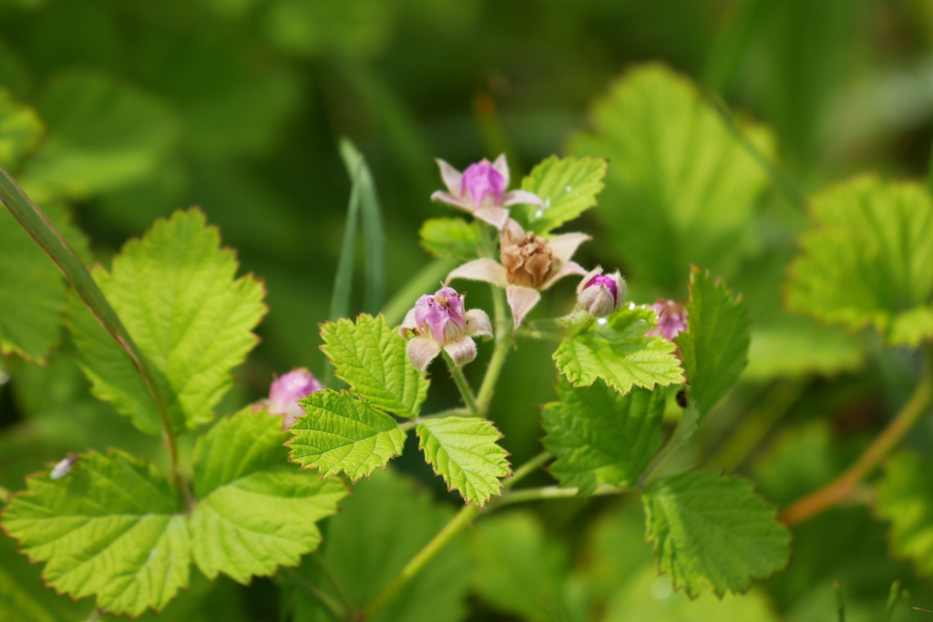
<svg viewBox="0 0 933 622">
<path fill-rule="evenodd" d="M 7 206 L 10 213 L 20 222 L 22 228 L 29 232 L 46 255 L 55 262 L 59 270 L 62 270 L 68 283 L 75 288 L 75 293 L 91 311 L 94 318 L 104 326 L 104 330 L 130 356 L 132 365 L 136 367 L 136 371 L 143 379 L 146 390 L 152 396 L 152 401 L 159 412 L 163 429 L 162 436 L 169 453 L 169 463 L 172 465 L 171 481 L 181 491 L 186 504 L 190 505 L 188 486 L 181 480 L 178 472 L 178 451 L 167 402 L 156 380 L 156 374 L 146 357 L 136 347 L 126 326 L 120 321 L 117 311 L 114 311 L 110 301 L 91 276 L 91 272 L 77 256 L 75 249 L 52 224 L 49 216 L 43 213 L 38 205 L 23 192 L 2 166 L 0 166 L 0 201 Z"/>
</svg>

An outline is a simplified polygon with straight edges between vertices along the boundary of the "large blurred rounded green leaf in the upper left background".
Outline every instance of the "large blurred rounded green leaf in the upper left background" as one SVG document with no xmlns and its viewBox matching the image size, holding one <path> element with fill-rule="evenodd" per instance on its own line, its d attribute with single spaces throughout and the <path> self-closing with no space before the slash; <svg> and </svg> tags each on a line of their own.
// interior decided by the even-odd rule
<svg viewBox="0 0 933 622">
<path fill-rule="evenodd" d="M 49 124 L 22 187 L 33 200 L 84 198 L 156 173 L 178 129 L 172 111 L 128 84 L 91 72 L 53 80 L 39 103 Z"/>
</svg>

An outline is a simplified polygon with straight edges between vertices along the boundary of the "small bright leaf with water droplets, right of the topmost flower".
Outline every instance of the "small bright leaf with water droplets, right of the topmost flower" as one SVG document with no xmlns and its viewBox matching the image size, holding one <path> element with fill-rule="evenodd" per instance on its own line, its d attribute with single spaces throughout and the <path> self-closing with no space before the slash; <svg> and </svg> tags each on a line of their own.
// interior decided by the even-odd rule
<svg viewBox="0 0 933 622">
<path fill-rule="evenodd" d="M 601 158 L 556 156 L 538 164 L 522 179 L 522 190 L 536 194 L 544 205 L 514 208 L 523 216 L 526 229 L 550 233 L 595 205 L 596 195 L 606 187 L 606 164 L 606 159 Z"/>
</svg>

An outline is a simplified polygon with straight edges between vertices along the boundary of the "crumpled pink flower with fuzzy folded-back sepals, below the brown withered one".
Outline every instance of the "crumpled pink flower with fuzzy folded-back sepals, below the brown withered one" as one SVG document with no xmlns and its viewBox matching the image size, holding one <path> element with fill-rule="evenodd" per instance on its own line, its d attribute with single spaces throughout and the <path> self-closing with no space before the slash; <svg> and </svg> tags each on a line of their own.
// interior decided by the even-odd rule
<svg viewBox="0 0 933 622">
<path fill-rule="evenodd" d="M 398 332 L 410 339 L 406 352 L 418 371 L 424 373 L 441 349 L 458 366 L 465 366 L 476 358 L 476 344 L 471 338 L 493 336 L 485 311 L 464 311 L 464 296 L 453 287 L 441 287 L 434 296 L 418 298 L 414 309 L 405 315 Z"/>
</svg>

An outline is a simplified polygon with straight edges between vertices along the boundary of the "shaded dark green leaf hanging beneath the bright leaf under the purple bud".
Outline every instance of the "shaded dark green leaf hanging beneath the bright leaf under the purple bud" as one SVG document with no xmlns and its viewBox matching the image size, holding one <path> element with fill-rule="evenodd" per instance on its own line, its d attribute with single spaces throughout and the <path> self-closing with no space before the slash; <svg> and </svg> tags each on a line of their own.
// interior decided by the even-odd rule
<svg viewBox="0 0 933 622">
<path fill-rule="evenodd" d="M 557 458 L 550 473 L 589 494 L 602 484 L 627 487 L 661 446 L 664 391 L 635 388 L 620 394 L 596 382 L 558 386 L 560 402 L 544 407 L 544 447 Z"/>
</svg>

